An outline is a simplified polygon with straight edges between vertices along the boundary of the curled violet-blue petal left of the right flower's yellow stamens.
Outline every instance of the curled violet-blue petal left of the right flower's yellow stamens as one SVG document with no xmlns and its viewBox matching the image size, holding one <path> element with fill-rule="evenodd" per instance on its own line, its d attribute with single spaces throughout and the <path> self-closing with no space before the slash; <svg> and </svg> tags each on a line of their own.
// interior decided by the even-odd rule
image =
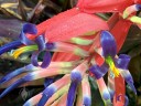
<svg viewBox="0 0 141 106">
<path fill-rule="evenodd" d="M 108 65 L 104 63 L 101 66 L 93 65 L 89 71 L 95 75 L 95 77 L 98 80 L 102 77 L 108 72 Z"/>
</svg>

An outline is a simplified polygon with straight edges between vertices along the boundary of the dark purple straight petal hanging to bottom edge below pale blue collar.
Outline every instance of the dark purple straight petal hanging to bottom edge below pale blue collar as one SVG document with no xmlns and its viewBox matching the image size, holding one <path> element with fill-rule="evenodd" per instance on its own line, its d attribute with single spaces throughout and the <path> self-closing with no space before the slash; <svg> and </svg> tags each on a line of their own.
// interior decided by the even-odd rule
<svg viewBox="0 0 141 106">
<path fill-rule="evenodd" d="M 67 94 L 67 105 L 66 106 L 74 106 L 77 86 L 78 86 L 77 82 L 70 83 L 68 94 Z"/>
</svg>

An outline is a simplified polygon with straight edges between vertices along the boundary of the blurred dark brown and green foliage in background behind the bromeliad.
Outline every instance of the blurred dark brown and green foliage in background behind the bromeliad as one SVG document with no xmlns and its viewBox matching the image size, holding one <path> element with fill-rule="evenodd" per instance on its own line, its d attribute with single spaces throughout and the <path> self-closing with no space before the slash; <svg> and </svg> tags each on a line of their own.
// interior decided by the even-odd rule
<svg viewBox="0 0 141 106">
<path fill-rule="evenodd" d="M 74 7 L 76 2 L 77 0 L 0 0 L 0 45 L 18 39 L 24 22 L 35 24 L 41 23 L 42 21 Z M 104 15 L 99 13 L 97 15 L 107 20 L 111 14 Z M 11 52 L 12 51 L 0 56 L 1 76 L 18 67 L 24 66 L 30 62 L 29 54 L 24 54 L 14 60 L 10 55 Z M 130 102 L 129 106 L 141 106 L 141 30 L 138 26 L 131 26 L 120 53 L 129 54 L 132 57 L 129 64 L 129 70 L 138 89 L 138 96 L 135 96 L 130 91 L 129 86 L 127 86 L 127 95 Z M 89 81 L 93 92 L 93 106 L 104 106 L 96 83 L 91 77 L 89 77 Z M 39 86 L 25 87 L 29 93 L 25 99 L 21 97 L 21 91 L 23 88 L 24 87 L 19 87 L 0 99 L 0 106 L 22 106 L 28 98 L 40 93 L 44 87 L 40 84 Z"/>
</svg>

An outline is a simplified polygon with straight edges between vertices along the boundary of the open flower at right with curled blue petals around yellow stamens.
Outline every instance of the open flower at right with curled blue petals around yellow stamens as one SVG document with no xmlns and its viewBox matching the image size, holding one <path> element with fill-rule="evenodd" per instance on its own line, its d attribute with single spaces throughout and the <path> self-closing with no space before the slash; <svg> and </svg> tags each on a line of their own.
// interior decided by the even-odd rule
<svg viewBox="0 0 141 106">
<path fill-rule="evenodd" d="M 97 80 L 101 78 L 107 73 L 107 71 L 109 71 L 108 73 L 112 78 L 119 77 L 119 75 L 121 75 L 132 88 L 132 91 L 137 94 L 132 76 L 128 71 L 130 56 L 124 54 L 117 56 L 117 44 L 110 32 L 102 31 L 100 38 L 105 62 L 101 66 L 93 65 L 90 67 L 90 72 L 94 73 Z"/>
</svg>

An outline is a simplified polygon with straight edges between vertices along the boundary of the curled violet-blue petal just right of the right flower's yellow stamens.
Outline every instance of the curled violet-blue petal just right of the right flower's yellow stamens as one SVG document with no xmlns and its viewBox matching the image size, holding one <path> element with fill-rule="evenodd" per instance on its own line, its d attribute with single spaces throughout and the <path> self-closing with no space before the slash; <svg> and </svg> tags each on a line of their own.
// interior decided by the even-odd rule
<svg viewBox="0 0 141 106">
<path fill-rule="evenodd" d="M 128 64 L 130 62 L 130 56 L 126 55 L 126 54 L 120 54 L 119 59 L 116 59 L 116 66 L 122 70 L 127 70 L 128 68 Z"/>
</svg>

